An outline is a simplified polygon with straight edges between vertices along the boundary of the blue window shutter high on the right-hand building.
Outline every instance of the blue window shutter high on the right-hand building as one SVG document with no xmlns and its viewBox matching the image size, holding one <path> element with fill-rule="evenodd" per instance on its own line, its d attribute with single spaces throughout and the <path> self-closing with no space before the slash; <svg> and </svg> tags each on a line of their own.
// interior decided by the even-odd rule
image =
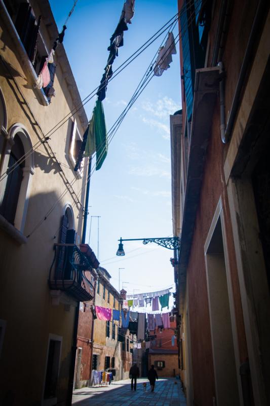
<svg viewBox="0 0 270 406">
<path fill-rule="evenodd" d="M 191 120 L 192 116 L 192 106 L 193 106 L 193 90 L 194 83 L 192 80 L 192 66 L 191 66 L 191 49 L 190 49 L 190 38 L 189 38 L 189 22 L 187 15 L 186 2 L 184 2 L 183 7 L 180 12 L 180 23 L 181 23 L 181 39 L 182 39 L 182 51 L 183 51 L 183 78 L 185 87 L 185 99 L 186 99 L 186 111 L 187 120 Z"/>
</svg>

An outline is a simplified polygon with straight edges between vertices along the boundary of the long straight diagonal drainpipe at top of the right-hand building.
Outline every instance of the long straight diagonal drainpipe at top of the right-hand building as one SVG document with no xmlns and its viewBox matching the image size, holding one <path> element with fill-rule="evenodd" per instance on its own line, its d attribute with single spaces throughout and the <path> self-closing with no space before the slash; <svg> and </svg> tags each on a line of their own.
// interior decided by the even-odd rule
<svg viewBox="0 0 270 406">
<path fill-rule="evenodd" d="M 244 82 L 246 79 L 246 74 L 247 74 L 250 62 L 252 61 L 252 52 L 253 52 L 254 44 L 256 43 L 258 30 L 261 28 L 261 25 L 262 25 L 261 24 L 262 18 L 265 17 L 265 5 L 266 5 L 266 1 L 260 0 L 257 10 L 256 10 L 256 14 L 255 14 L 253 23 L 252 23 L 247 48 L 245 51 L 240 74 L 238 77 L 238 82 L 236 85 L 236 91 L 234 94 L 232 107 L 229 112 L 227 126 L 226 126 L 223 137 L 221 134 L 221 139 L 224 144 L 228 143 L 230 136 L 232 134 L 233 126 L 234 126 L 236 115 L 237 115 L 238 108 L 239 108 L 241 93 L 242 93 Z"/>
</svg>

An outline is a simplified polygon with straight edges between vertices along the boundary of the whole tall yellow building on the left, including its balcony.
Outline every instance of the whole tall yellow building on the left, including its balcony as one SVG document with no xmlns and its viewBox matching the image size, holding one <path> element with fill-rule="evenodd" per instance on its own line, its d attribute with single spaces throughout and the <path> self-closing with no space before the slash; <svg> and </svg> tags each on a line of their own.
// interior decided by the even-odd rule
<svg viewBox="0 0 270 406">
<path fill-rule="evenodd" d="M 0 11 L 0 403 L 71 404 L 79 303 L 95 288 L 80 245 L 88 159 L 74 172 L 88 119 L 62 44 L 35 87 L 59 35 L 49 1 Z"/>
</svg>

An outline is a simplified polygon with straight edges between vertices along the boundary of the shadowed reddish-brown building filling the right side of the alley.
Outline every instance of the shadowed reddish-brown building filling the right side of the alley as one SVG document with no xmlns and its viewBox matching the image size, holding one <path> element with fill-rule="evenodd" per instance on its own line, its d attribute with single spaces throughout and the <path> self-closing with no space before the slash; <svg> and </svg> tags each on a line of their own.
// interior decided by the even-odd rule
<svg viewBox="0 0 270 406">
<path fill-rule="evenodd" d="M 269 2 L 178 0 L 171 116 L 187 405 L 270 404 Z"/>
</svg>

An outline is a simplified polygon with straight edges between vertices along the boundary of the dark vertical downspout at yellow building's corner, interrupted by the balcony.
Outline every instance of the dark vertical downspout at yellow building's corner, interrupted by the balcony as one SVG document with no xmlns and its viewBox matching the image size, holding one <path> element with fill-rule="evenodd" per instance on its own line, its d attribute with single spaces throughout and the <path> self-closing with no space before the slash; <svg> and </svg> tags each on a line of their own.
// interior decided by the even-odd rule
<svg viewBox="0 0 270 406">
<path fill-rule="evenodd" d="M 89 163 L 88 163 L 88 171 L 87 171 L 87 186 L 86 186 L 82 244 L 85 244 L 85 238 L 86 238 L 86 223 L 87 223 L 87 215 L 88 215 L 91 162 L 92 162 L 92 160 L 90 157 Z M 72 404 L 73 383 L 74 383 L 75 364 L 76 364 L 76 351 L 77 351 L 77 335 L 78 335 L 78 326 L 79 326 L 79 314 L 80 314 L 80 302 L 78 301 L 77 307 L 75 309 L 75 316 L 74 316 L 73 339 L 72 339 L 72 348 L 71 348 L 71 362 L 70 362 L 70 370 L 69 370 L 69 383 L 68 383 L 68 394 L 67 394 L 67 405 L 69 405 L 69 406 L 71 406 L 71 404 Z"/>
</svg>

